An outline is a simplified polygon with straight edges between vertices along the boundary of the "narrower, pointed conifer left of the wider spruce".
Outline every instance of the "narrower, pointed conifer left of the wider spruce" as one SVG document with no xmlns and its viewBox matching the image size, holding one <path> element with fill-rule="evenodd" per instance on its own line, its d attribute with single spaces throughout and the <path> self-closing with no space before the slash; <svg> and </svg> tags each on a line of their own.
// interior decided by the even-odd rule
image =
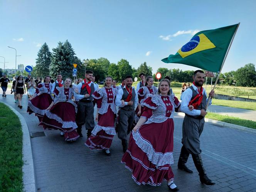
<svg viewBox="0 0 256 192">
<path fill-rule="evenodd" d="M 51 52 L 46 43 L 44 43 L 37 53 L 37 59 L 35 59 L 35 71 L 36 76 L 45 77 L 50 74 L 49 66 L 51 64 Z"/>
</svg>

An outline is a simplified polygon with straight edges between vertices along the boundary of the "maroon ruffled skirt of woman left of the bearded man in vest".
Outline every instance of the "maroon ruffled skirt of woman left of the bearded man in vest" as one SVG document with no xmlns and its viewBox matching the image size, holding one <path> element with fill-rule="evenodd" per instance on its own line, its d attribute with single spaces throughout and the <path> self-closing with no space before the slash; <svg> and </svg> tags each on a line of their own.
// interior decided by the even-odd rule
<svg viewBox="0 0 256 192">
<path fill-rule="evenodd" d="M 115 118 L 116 115 L 110 106 L 106 113 L 99 114 L 98 123 L 94 126 L 91 136 L 89 136 L 84 145 L 90 149 L 109 149 L 112 139 L 116 135 Z"/>
</svg>

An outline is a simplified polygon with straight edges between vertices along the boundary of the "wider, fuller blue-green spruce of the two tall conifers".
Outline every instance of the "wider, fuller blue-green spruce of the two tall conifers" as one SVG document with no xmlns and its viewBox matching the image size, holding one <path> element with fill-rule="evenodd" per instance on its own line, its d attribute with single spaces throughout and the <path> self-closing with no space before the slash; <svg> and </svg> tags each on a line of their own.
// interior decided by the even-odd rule
<svg viewBox="0 0 256 192">
<path fill-rule="evenodd" d="M 52 49 L 51 58 L 50 75 L 52 77 L 56 77 L 59 72 L 63 79 L 72 77 L 75 52 L 68 40 L 66 40 L 64 44 L 58 42 L 58 46 Z"/>
</svg>

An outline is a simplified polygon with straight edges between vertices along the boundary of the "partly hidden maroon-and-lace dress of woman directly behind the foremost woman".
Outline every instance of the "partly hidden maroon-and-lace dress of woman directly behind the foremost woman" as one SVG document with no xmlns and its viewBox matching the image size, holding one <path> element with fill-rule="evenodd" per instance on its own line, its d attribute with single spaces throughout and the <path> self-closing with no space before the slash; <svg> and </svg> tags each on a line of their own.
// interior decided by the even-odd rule
<svg viewBox="0 0 256 192">
<path fill-rule="evenodd" d="M 143 103 L 148 98 L 148 94 L 157 94 L 157 87 L 155 86 L 152 86 L 151 88 L 149 88 L 148 86 L 141 87 L 138 91 L 139 104 Z M 143 113 L 143 106 L 141 106 L 140 115 L 138 115 L 138 112 L 139 112 L 139 107 L 137 106 L 137 108 L 135 109 L 135 118 L 134 118 L 135 125 L 140 120 L 140 116 Z"/>
</svg>

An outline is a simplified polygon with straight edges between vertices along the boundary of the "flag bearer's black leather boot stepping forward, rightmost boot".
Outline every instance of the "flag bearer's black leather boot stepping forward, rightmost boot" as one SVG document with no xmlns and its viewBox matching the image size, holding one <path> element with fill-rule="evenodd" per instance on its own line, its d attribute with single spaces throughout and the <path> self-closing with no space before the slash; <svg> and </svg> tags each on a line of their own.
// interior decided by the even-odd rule
<svg viewBox="0 0 256 192">
<path fill-rule="evenodd" d="M 192 158 L 195 164 L 195 167 L 197 168 L 197 171 L 199 172 L 200 182 L 205 185 L 214 185 L 215 183 L 212 182 L 211 179 L 209 179 L 205 173 L 203 162 L 201 159 L 200 154 L 192 154 Z"/>
</svg>

